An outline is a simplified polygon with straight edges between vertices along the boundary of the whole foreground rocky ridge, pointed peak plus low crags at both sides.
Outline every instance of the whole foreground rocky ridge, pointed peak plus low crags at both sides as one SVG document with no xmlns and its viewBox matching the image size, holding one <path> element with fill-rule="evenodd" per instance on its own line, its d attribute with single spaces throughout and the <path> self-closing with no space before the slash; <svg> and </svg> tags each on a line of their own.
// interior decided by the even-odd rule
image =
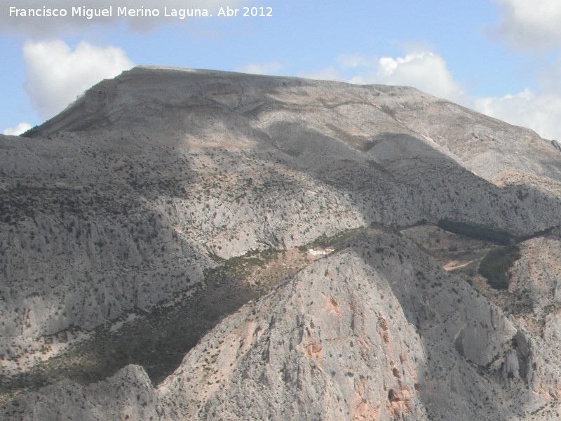
<svg viewBox="0 0 561 421">
<path fill-rule="evenodd" d="M 561 397 L 559 354 L 540 345 L 409 241 L 358 236 L 225 319 L 157 389 L 130 366 L 101 385 L 43 389 L 4 414 L 531 419 Z"/>
</svg>

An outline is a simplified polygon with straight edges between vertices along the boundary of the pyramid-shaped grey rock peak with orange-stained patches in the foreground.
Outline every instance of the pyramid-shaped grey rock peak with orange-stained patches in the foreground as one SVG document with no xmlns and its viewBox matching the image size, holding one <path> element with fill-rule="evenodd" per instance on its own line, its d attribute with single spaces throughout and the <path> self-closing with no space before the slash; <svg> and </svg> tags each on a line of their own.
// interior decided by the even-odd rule
<svg viewBox="0 0 561 421">
<path fill-rule="evenodd" d="M 475 367 L 515 333 L 399 238 L 363 238 L 227 319 L 158 392 L 169 420 L 494 419 Z"/>
</svg>

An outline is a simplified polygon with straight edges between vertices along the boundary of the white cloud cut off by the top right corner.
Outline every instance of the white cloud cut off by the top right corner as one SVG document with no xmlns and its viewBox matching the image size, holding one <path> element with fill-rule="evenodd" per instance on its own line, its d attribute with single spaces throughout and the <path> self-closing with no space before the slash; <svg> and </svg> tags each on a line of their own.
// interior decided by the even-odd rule
<svg viewBox="0 0 561 421">
<path fill-rule="evenodd" d="M 559 0 L 494 0 L 501 8 L 499 27 L 490 34 L 515 48 L 539 50 L 561 45 Z"/>
</svg>

